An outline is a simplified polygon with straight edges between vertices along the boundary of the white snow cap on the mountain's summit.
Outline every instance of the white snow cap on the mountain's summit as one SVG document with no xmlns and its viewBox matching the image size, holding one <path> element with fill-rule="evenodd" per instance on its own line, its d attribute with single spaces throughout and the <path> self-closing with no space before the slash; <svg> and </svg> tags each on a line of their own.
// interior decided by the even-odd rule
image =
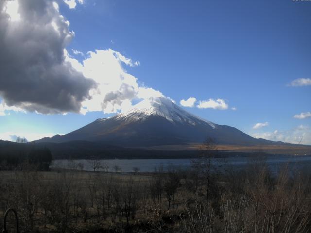
<svg viewBox="0 0 311 233">
<path fill-rule="evenodd" d="M 116 118 L 126 121 L 143 121 L 149 116 L 161 116 L 172 123 L 190 125 L 207 123 L 212 128 L 215 128 L 214 123 L 188 113 L 165 97 L 152 97 L 142 100 L 128 112 L 118 114 Z"/>
</svg>

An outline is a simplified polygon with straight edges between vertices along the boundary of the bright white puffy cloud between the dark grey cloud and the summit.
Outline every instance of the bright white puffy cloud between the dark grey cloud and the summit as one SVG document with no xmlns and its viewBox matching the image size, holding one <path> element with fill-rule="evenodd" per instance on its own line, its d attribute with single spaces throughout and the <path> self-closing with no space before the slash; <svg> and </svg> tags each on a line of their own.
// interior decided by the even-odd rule
<svg viewBox="0 0 311 233">
<path fill-rule="evenodd" d="M 70 62 L 72 67 L 97 83 L 97 87 L 89 91 L 91 98 L 82 102 L 82 114 L 89 111 L 124 112 L 132 106 L 133 99 L 164 96 L 153 88 L 139 86 L 137 78 L 127 73 L 122 66 L 136 66 L 138 62 L 133 62 L 120 52 L 112 49 L 89 51 L 82 64 L 67 51 L 64 53 L 66 61 Z"/>
</svg>

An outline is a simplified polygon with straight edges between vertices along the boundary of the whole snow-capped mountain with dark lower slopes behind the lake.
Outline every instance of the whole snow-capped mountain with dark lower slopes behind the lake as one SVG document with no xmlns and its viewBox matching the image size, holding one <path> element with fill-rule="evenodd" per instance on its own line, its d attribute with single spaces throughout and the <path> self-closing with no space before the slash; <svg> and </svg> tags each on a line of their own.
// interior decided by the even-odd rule
<svg viewBox="0 0 311 233">
<path fill-rule="evenodd" d="M 166 98 L 141 101 L 130 111 L 94 122 L 66 135 L 37 142 L 93 141 L 124 147 L 202 143 L 206 137 L 219 144 L 258 145 L 276 142 L 255 139 L 242 131 L 194 116 Z"/>
</svg>

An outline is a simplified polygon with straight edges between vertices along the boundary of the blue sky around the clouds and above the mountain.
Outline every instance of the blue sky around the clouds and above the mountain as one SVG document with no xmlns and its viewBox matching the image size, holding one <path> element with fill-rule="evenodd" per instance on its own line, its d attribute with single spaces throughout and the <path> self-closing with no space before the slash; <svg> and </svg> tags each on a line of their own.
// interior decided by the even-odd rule
<svg viewBox="0 0 311 233">
<path fill-rule="evenodd" d="M 95 61 L 101 59 L 95 58 L 96 50 L 111 49 L 131 59 L 119 63 L 138 86 L 178 105 L 194 97 L 194 106 L 184 108 L 197 116 L 256 137 L 311 144 L 310 1 L 80 0 L 74 8 L 63 1 L 58 5 L 74 32 L 65 48 L 71 59 L 83 63 L 91 51 Z M 0 88 L 2 103 L 8 102 L 5 96 Z M 197 107 L 210 99 L 207 108 Z M 220 103 L 217 99 L 225 106 L 212 105 Z M 116 114 L 115 108 L 85 115 L 38 114 L 20 101 L 12 106 L 0 114 L 0 139 L 65 134 Z"/>
</svg>

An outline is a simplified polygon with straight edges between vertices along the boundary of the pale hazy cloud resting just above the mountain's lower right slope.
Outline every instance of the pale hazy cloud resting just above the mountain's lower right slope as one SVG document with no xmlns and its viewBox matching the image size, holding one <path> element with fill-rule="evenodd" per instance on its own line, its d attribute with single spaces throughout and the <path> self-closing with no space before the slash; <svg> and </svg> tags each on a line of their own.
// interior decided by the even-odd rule
<svg viewBox="0 0 311 233">
<path fill-rule="evenodd" d="M 272 141 L 311 145 L 311 128 L 304 125 L 299 125 L 287 131 L 275 130 L 274 132 L 250 133 L 250 135 Z"/>
</svg>

